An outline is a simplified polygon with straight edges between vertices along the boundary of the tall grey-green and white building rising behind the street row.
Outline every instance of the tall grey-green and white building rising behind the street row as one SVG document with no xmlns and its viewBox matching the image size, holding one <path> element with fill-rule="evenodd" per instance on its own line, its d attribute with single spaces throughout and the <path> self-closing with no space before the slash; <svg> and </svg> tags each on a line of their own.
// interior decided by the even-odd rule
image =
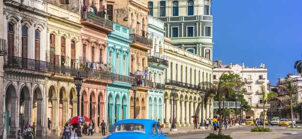
<svg viewBox="0 0 302 139">
<path fill-rule="evenodd" d="M 174 46 L 212 60 L 210 0 L 149 0 L 148 9 L 149 15 L 165 22 L 165 36 Z"/>
</svg>

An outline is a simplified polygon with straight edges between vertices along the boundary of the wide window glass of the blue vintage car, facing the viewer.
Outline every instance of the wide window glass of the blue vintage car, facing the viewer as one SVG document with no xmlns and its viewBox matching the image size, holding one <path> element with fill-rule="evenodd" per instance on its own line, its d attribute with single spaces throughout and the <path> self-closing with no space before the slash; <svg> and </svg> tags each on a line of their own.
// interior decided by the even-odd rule
<svg viewBox="0 0 302 139">
<path fill-rule="evenodd" d="M 123 124 L 115 125 L 113 127 L 112 132 L 120 132 L 120 131 L 144 132 L 144 125 L 138 123 L 123 123 Z"/>
</svg>

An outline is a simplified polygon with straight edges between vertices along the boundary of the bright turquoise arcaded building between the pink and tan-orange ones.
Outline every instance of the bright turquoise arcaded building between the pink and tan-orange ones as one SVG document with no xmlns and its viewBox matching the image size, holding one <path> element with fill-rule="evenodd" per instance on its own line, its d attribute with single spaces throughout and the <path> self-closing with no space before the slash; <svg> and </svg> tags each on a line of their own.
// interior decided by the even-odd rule
<svg viewBox="0 0 302 139">
<path fill-rule="evenodd" d="M 129 77 L 129 28 L 113 23 L 113 32 L 107 40 L 107 69 L 113 83 L 107 85 L 107 121 L 109 129 L 121 119 L 129 118 L 129 89 L 133 78 Z"/>
</svg>

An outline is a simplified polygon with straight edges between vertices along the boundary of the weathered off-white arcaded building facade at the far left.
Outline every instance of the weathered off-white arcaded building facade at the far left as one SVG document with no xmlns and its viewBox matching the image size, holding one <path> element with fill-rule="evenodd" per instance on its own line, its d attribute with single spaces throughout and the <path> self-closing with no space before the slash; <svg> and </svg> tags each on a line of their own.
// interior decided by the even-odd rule
<svg viewBox="0 0 302 139">
<path fill-rule="evenodd" d="M 4 35 L 1 36 L 8 41 L 1 83 L 4 91 L 4 137 L 16 137 L 18 129 L 23 129 L 26 122 L 35 122 L 37 136 L 45 136 L 47 125 L 42 117 L 46 114 L 43 107 L 46 102 L 45 78 L 49 75 L 42 74 L 42 67 L 32 63 L 45 60 L 49 14 L 43 1 L 2 1 L 1 5 L 4 6 L 0 7 L 0 12 L 3 10 L 1 34 Z"/>
</svg>

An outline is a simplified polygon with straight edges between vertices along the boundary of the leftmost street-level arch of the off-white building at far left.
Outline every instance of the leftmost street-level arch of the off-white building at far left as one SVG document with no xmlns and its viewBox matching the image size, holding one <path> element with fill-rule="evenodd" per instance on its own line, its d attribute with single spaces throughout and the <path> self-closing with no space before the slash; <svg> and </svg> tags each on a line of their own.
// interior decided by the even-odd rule
<svg viewBox="0 0 302 139">
<path fill-rule="evenodd" d="M 5 96 L 5 128 L 7 132 L 7 137 L 17 136 L 17 130 L 12 130 L 13 128 L 17 128 L 18 126 L 15 124 L 17 119 L 17 92 L 13 85 L 10 85 L 7 88 L 6 96 Z"/>
</svg>

